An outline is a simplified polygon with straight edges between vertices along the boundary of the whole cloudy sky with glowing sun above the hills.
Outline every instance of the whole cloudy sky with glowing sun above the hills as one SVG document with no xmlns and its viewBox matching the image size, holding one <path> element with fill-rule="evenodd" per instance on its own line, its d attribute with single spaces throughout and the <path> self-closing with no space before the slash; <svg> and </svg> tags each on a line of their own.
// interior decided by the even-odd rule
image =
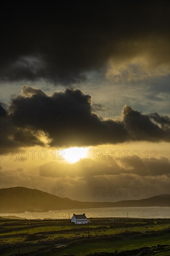
<svg viewBox="0 0 170 256">
<path fill-rule="evenodd" d="M 170 193 L 168 1 L 4 5 L 0 187 Z"/>
</svg>

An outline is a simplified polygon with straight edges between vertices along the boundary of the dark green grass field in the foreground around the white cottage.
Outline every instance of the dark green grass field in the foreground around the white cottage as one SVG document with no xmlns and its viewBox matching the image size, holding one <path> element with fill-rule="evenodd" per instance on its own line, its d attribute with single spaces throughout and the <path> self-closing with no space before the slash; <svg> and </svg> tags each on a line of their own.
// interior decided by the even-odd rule
<svg viewBox="0 0 170 256">
<path fill-rule="evenodd" d="M 92 218 L 90 221 L 88 227 L 72 224 L 70 220 L 0 219 L 0 255 L 20 252 L 20 255 L 85 256 L 115 250 L 119 255 L 142 247 L 152 247 L 152 254 L 146 255 L 170 254 L 168 219 Z M 157 248 L 158 244 L 162 247 Z"/>
</svg>

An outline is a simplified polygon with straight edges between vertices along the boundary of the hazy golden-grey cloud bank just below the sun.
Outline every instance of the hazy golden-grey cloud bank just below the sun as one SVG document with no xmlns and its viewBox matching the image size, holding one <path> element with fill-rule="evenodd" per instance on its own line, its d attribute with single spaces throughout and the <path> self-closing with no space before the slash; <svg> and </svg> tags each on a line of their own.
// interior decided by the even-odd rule
<svg viewBox="0 0 170 256">
<path fill-rule="evenodd" d="M 156 160 L 146 160 L 139 158 L 127 159 L 123 157 L 120 160 L 102 159 L 96 160 L 81 159 L 74 164 L 49 162 L 39 167 L 40 176 L 45 177 L 65 177 L 65 178 L 84 178 L 90 181 L 94 176 L 117 176 L 117 175 L 138 175 L 144 176 L 169 176 L 170 161 L 166 157 L 160 157 Z"/>
</svg>

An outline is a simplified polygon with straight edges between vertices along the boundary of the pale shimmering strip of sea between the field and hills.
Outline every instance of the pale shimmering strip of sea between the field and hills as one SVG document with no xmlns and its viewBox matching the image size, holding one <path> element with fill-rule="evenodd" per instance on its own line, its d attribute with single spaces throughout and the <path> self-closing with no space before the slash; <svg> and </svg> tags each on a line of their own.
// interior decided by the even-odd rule
<svg viewBox="0 0 170 256">
<path fill-rule="evenodd" d="M 2 213 L 26 219 L 70 219 L 73 214 L 85 213 L 87 218 L 170 218 L 170 207 L 112 207 L 91 209 L 52 210 L 48 212 Z"/>
</svg>

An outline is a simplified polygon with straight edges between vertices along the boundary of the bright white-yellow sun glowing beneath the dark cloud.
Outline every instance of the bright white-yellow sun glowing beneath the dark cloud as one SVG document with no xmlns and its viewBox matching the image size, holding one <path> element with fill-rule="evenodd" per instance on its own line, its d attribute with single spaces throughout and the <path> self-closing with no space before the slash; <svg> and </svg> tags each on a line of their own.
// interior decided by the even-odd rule
<svg viewBox="0 0 170 256">
<path fill-rule="evenodd" d="M 89 148 L 67 148 L 64 149 L 63 157 L 67 162 L 78 162 L 81 158 L 85 158 Z"/>
</svg>

